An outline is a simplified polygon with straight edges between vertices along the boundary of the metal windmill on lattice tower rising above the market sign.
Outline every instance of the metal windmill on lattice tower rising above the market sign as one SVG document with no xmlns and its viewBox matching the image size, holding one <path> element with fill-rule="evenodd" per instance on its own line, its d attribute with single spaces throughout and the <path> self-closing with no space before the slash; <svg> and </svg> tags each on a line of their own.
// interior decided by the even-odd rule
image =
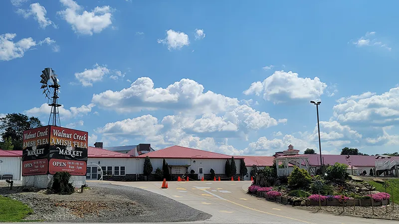
<svg viewBox="0 0 399 224">
<path fill-rule="evenodd" d="M 61 121 L 59 119 L 59 110 L 58 108 L 61 106 L 58 104 L 58 92 L 59 88 L 61 87 L 57 79 L 57 75 L 55 71 L 51 68 L 45 68 L 41 71 L 42 74 L 40 75 L 41 80 L 40 83 L 42 84 L 40 89 L 43 89 L 43 94 L 47 99 L 48 106 L 51 107 L 50 117 L 48 118 L 48 125 L 54 126 L 61 126 Z"/>
</svg>

